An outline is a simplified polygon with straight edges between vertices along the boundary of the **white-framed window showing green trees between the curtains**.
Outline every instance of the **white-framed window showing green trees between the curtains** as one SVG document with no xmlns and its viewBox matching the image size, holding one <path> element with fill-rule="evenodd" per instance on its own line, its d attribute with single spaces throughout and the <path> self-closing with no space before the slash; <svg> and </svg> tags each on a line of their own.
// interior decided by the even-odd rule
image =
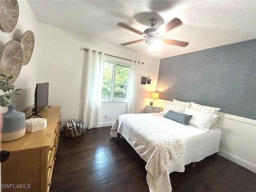
<svg viewBox="0 0 256 192">
<path fill-rule="evenodd" d="M 105 59 L 102 81 L 102 102 L 125 102 L 129 79 L 129 64 Z"/>
</svg>

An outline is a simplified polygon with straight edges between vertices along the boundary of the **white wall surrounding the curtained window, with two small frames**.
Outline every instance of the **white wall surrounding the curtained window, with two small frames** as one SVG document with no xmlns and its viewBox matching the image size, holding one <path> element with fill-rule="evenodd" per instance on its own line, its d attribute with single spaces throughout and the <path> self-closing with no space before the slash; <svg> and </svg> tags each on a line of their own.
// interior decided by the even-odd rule
<svg viewBox="0 0 256 192">
<path fill-rule="evenodd" d="M 37 82 L 49 82 L 49 105 L 62 106 L 62 125 L 72 118 L 79 119 L 80 86 L 83 48 L 103 51 L 106 54 L 140 61 L 136 89 L 136 113 L 146 112 L 145 106 L 150 92 L 156 90 L 160 60 L 136 51 L 95 40 L 61 28 L 38 23 Z M 144 62 L 142 65 L 141 63 Z M 152 83 L 141 85 L 141 76 L 150 77 Z M 110 107 L 110 105 L 112 107 Z M 114 107 L 113 107 L 114 106 Z M 100 124 L 104 126 L 123 114 L 124 104 L 102 103 Z M 104 118 L 108 114 L 108 118 Z"/>
</svg>

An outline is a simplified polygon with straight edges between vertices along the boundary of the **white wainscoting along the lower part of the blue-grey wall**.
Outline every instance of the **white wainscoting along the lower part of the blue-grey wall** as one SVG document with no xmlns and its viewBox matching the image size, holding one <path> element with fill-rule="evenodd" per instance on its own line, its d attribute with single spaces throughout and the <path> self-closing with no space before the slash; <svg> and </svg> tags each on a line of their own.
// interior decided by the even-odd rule
<svg viewBox="0 0 256 192">
<path fill-rule="evenodd" d="M 165 108 L 167 100 L 158 100 Z M 218 112 L 221 130 L 218 154 L 256 173 L 256 120 Z"/>
</svg>

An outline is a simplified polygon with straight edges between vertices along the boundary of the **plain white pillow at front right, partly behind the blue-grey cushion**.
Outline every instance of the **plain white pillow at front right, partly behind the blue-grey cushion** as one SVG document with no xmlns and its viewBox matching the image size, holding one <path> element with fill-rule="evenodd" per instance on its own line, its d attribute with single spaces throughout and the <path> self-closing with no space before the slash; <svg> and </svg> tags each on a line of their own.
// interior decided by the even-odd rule
<svg viewBox="0 0 256 192">
<path fill-rule="evenodd" d="M 209 128 L 218 119 L 218 115 L 216 114 L 210 114 L 192 108 L 185 108 L 185 111 L 183 113 L 187 115 L 192 115 L 192 118 L 190 119 L 188 124 L 194 125 L 205 131 L 209 131 Z"/>
</svg>

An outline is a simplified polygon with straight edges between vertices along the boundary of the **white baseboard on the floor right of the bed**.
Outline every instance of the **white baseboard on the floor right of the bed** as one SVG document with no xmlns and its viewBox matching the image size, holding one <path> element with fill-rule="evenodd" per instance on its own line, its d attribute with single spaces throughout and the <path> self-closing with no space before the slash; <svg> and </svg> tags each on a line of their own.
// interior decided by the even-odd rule
<svg viewBox="0 0 256 192">
<path fill-rule="evenodd" d="M 220 155 L 220 156 L 222 156 L 222 157 L 224 157 L 224 158 L 226 158 L 226 159 L 228 159 L 228 160 L 230 160 L 230 161 L 232 161 L 232 162 L 234 162 L 234 163 L 236 163 L 236 164 L 238 164 L 238 165 L 240 165 L 240 166 L 242 166 L 242 167 L 244 167 L 244 168 L 246 168 L 246 169 L 248 169 L 248 170 L 250 170 L 254 173 L 256 173 L 256 165 L 254 165 L 254 164 L 252 164 L 252 163 L 250 163 L 250 162 L 248 162 L 244 159 L 241 159 L 237 156 L 234 156 L 234 155 L 232 155 L 232 154 L 230 154 L 230 153 L 228 153 L 224 150 L 221 150 L 221 149 L 219 150 L 218 155 Z"/>
</svg>

